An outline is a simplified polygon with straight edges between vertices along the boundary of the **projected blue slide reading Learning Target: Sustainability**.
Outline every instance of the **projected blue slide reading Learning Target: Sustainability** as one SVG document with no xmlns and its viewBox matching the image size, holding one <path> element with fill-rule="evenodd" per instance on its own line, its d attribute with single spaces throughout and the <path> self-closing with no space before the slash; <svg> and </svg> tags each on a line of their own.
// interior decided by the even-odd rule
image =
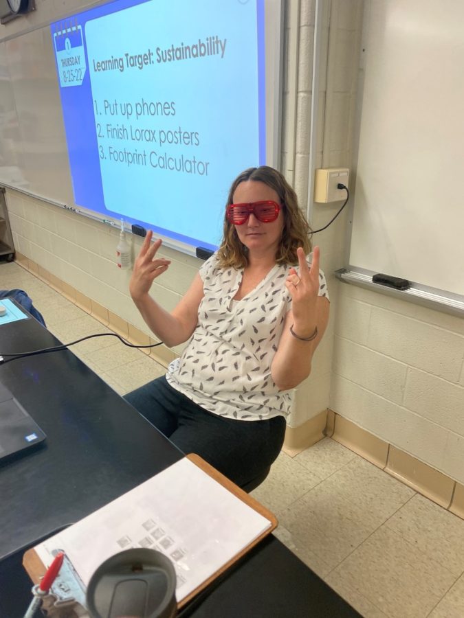
<svg viewBox="0 0 464 618">
<path fill-rule="evenodd" d="M 114 1 L 52 24 L 76 205 L 214 249 L 265 161 L 263 0 Z"/>
</svg>

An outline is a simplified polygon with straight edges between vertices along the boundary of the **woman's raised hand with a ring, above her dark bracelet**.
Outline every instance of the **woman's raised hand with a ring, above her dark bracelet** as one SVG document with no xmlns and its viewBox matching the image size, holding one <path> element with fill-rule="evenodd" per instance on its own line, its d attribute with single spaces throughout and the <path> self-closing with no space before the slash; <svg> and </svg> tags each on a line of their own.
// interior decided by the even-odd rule
<svg viewBox="0 0 464 618">
<path fill-rule="evenodd" d="M 319 295 L 319 247 L 314 247 L 313 261 L 308 266 L 305 251 L 297 249 L 298 273 L 290 268 L 285 286 L 291 295 L 294 330 L 310 336 L 316 328 L 316 301 Z"/>
</svg>

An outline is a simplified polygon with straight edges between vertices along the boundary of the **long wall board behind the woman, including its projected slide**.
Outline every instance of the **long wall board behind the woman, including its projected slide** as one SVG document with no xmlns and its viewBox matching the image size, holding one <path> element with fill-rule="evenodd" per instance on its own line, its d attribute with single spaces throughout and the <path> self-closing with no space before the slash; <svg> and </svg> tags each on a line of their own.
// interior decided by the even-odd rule
<svg viewBox="0 0 464 618">
<path fill-rule="evenodd" d="M 0 184 L 215 249 L 278 166 L 280 0 L 115 0 L 0 43 Z M 169 243 L 168 243 L 169 244 Z"/>
</svg>

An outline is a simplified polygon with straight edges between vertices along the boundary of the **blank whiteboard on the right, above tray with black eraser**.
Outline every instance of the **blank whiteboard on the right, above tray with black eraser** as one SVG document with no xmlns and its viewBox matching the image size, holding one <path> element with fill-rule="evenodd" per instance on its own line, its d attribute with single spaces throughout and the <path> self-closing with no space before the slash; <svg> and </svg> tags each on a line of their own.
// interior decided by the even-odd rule
<svg viewBox="0 0 464 618">
<path fill-rule="evenodd" d="M 349 263 L 464 295 L 464 3 L 366 3 Z"/>
</svg>

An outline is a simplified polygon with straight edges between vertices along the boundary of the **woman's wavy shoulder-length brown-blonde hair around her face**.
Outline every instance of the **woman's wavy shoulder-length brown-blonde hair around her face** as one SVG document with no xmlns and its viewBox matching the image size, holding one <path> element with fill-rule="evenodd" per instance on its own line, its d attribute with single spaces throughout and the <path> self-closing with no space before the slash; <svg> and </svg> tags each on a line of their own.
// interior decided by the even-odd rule
<svg viewBox="0 0 464 618">
<path fill-rule="evenodd" d="M 311 227 L 298 206 L 296 193 L 283 174 L 267 165 L 261 165 L 259 168 L 248 168 L 236 177 L 230 187 L 226 207 L 233 204 L 234 192 L 239 184 L 249 180 L 264 183 L 274 189 L 282 207 L 284 226 L 276 253 L 276 264 L 297 264 L 296 249 L 298 247 L 305 250 L 305 255 L 311 252 L 311 240 L 309 239 Z M 224 214 L 223 240 L 217 253 L 218 266 L 244 268 L 248 264 L 247 251 L 247 247 L 237 236 L 235 226 L 228 222 Z"/>
</svg>

